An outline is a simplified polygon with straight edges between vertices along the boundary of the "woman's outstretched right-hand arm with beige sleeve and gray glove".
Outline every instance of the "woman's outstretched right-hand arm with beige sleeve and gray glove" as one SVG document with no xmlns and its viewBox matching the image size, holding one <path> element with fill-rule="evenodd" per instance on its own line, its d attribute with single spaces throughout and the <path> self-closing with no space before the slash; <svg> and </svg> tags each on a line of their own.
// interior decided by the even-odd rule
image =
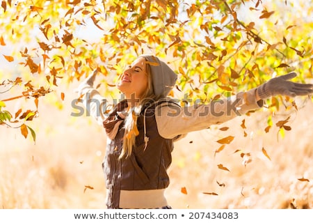
<svg viewBox="0 0 313 223">
<path fill-rule="evenodd" d="M 209 128 L 210 125 L 224 123 L 236 116 L 261 108 L 264 99 L 271 96 L 295 97 L 313 93 L 313 84 L 289 82 L 288 79 L 293 77 L 296 77 L 294 72 L 275 77 L 255 89 L 240 92 L 230 98 L 216 100 L 209 104 L 186 107 L 159 105 L 156 113 L 159 134 L 170 139 L 180 134 Z"/>
</svg>

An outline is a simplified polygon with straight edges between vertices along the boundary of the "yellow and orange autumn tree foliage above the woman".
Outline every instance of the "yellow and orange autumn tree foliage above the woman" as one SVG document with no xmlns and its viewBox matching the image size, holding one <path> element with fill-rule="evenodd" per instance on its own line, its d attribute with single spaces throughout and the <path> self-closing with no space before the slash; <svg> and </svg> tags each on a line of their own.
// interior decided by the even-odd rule
<svg viewBox="0 0 313 223">
<path fill-rule="evenodd" d="M 312 17 L 310 3 L 287 0 L 271 4 L 262 0 L 3 0 L 0 50 L 8 45 L 10 52 L 1 56 L 8 66 L 15 63 L 22 71 L 1 80 L 1 92 L 16 86 L 24 90 L 13 98 L 1 98 L 0 124 L 17 123 L 15 128 L 24 137 L 30 131 L 35 140 L 26 121 L 32 121 L 38 111 L 19 109 L 13 115 L 2 109 L 5 103 L 27 98 L 38 107 L 40 97 L 59 93 L 61 79 L 71 84 L 95 69 L 106 85 L 104 94 L 111 95 L 114 79 L 139 54 L 168 61 L 179 74 L 178 91 L 202 102 L 251 89 L 290 71 L 304 82 L 313 77 L 312 21 L 279 10 L 294 4 Z M 99 35 L 93 38 L 93 33 Z M 40 78 L 44 84 L 37 81 Z M 59 94 L 63 99 L 64 93 Z M 282 103 L 295 107 L 290 98 L 268 102 L 272 112 Z"/>
</svg>

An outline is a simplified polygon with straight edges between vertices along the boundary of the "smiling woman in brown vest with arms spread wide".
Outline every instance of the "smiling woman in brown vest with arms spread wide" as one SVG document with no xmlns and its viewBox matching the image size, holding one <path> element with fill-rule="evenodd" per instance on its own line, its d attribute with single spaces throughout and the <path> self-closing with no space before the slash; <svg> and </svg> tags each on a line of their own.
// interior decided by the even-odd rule
<svg viewBox="0 0 313 223">
<path fill-rule="evenodd" d="M 313 93 L 312 84 L 287 81 L 296 77 L 292 72 L 225 100 L 179 107 L 167 97 L 177 80 L 175 72 L 156 56 L 142 55 L 118 81 L 126 99 L 110 105 L 93 89 L 95 75 L 82 82 L 78 92 L 108 137 L 102 164 L 107 208 L 170 208 L 164 191 L 170 182 L 166 170 L 175 140 L 259 109 L 273 95 Z"/>
</svg>

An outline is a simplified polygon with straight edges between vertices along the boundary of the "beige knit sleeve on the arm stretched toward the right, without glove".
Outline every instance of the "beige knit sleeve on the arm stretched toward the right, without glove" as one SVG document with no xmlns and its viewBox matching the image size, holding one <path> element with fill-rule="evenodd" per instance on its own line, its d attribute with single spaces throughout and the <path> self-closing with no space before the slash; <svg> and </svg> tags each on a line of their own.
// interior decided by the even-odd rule
<svg viewBox="0 0 313 223">
<path fill-rule="evenodd" d="M 186 107 L 159 105 L 156 109 L 157 128 L 161 137 L 172 139 L 179 134 L 224 123 L 250 110 L 259 109 L 262 105 L 262 100 L 259 102 L 255 100 L 255 89 L 209 104 Z"/>
</svg>

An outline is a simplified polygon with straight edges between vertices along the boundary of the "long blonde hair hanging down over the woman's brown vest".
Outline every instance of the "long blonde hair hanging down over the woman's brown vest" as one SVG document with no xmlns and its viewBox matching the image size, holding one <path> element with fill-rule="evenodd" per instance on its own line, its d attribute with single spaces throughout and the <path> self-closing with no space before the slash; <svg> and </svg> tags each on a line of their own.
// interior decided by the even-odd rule
<svg viewBox="0 0 313 223">
<path fill-rule="evenodd" d="M 147 78 L 148 84 L 147 89 L 143 93 L 143 96 L 139 99 L 138 105 L 134 107 L 130 107 L 127 111 L 127 116 L 125 118 L 125 133 L 123 137 L 123 146 L 122 152 L 120 153 L 120 158 L 122 157 L 129 157 L 133 150 L 133 146 L 136 142 L 136 136 L 138 136 L 139 132 L 137 129 L 137 118 L 141 114 L 141 110 L 143 109 L 144 105 L 149 102 L 150 100 L 157 100 L 157 96 L 154 95 L 153 86 L 152 86 L 152 75 L 151 75 L 151 68 L 148 63 L 146 63 L 146 70 L 147 70 Z"/>
</svg>

